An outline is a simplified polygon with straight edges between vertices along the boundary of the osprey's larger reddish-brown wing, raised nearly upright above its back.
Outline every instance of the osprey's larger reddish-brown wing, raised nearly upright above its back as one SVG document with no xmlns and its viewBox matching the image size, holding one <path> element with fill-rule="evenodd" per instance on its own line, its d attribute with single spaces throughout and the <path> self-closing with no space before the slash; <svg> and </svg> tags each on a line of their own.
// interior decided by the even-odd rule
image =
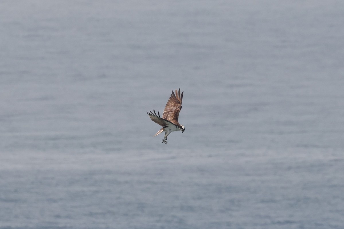
<svg viewBox="0 0 344 229">
<path fill-rule="evenodd" d="M 162 118 L 170 121 L 173 124 L 179 125 L 178 116 L 182 109 L 183 93 L 180 94 L 179 91 L 175 90 L 175 94 L 172 91 L 169 101 L 167 101 Z"/>
</svg>

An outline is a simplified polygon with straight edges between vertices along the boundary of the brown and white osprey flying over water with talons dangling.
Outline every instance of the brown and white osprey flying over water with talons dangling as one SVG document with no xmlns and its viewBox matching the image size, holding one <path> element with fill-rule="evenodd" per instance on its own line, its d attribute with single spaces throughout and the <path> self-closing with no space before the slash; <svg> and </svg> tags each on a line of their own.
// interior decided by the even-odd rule
<svg viewBox="0 0 344 229">
<path fill-rule="evenodd" d="M 164 142 L 165 144 L 167 143 L 167 136 L 169 136 L 169 134 L 172 131 L 181 130 L 183 133 L 185 130 L 184 126 L 178 123 L 179 112 L 182 109 L 183 93 L 184 92 L 180 94 L 180 89 L 178 93 L 177 90 L 175 90 L 175 94 L 172 91 L 170 99 L 166 103 L 162 117 L 160 117 L 159 111 L 158 115 L 157 113 L 155 113 L 155 110 L 153 110 L 154 114 L 151 111 L 147 112 L 148 116 L 152 119 L 152 121 L 162 126 L 162 128 L 153 137 L 165 131 L 165 137 L 164 139 L 162 139 L 162 142 Z"/>
</svg>

